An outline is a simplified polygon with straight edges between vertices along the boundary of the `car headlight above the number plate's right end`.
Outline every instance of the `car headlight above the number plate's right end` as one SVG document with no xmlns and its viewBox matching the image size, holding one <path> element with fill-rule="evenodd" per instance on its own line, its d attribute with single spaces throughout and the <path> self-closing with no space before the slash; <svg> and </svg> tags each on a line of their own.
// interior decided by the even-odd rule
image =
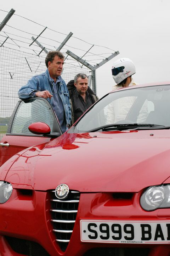
<svg viewBox="0 0 170 256">
<path fill-rule="evenodd" d="M 147 188 L 141 196 L 140 204 L 146 211 L 170 208 L 170 184 Z"/>
</svg>

